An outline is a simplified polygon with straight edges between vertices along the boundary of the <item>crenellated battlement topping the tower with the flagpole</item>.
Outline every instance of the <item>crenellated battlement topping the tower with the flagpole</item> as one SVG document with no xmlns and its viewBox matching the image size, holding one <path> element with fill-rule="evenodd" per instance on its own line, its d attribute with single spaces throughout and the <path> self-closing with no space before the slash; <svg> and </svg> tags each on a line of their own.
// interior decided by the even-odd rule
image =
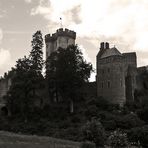
<svg viewBox="0 0 148 148">
<path fill-rule="evenodd" d="M 67 28 L 59 28 L 56 30 L 56 33 L 45 35 L 45 42 L 55 41 L 59 36 L 67 36 L 72 39 L 76 39 L 76 32 L 69 30 Z"/>
</svg>

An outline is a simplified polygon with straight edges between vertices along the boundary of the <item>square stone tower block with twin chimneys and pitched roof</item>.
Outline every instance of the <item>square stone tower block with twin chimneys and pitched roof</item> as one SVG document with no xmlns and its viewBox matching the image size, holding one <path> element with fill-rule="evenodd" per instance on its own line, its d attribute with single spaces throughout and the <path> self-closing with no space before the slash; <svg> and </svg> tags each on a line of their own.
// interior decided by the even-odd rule
<svg viewBox="0 0 148 148">
<path fill-rule="evenodd" d="M 96 65 L 97 96 L 121 106 L 127 98 L 134 99 L 136 53 L 121 54 L 117 48 L 110 48 L 109 43 L 102 42 Z"/>
</svg>

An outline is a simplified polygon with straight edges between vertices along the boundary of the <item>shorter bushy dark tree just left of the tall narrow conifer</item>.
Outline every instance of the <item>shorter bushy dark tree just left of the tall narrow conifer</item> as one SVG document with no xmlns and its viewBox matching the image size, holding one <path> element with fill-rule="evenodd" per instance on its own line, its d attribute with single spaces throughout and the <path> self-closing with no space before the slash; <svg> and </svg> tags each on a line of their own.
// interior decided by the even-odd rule
<svg viewBox="0 0 148 148">
<path fill-rule="evenodd" d="M 12 114 L 20 113 L 26 117 L 31 105 L 30 60 L 19 59 L 13 69 L 12 85 L 7 93 L 7 106 Z"/>
</svg>

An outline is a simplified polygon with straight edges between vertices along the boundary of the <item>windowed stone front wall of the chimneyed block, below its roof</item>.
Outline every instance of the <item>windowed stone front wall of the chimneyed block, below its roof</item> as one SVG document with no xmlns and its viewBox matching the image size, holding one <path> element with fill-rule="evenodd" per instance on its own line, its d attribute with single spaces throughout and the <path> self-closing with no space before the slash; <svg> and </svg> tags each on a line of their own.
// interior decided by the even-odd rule
<svg viewBox="0 0 148 148">
<path fill-rule="evenodd" d="M 103 96 L 111 103 L 122 105 L 126 100 L 122 57 L 101 59 L 97 66 L 97 96 Z"/>
</svg>

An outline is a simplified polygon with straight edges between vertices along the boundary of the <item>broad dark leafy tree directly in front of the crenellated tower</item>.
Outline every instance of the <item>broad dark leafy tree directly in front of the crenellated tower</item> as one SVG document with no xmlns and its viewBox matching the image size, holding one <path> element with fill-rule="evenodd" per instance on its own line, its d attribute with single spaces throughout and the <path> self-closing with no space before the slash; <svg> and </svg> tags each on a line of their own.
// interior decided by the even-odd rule
<svg viewBox="0 0 148 148">
<path fill-rule="evenodd" d="M 59 48 L 51 53 L 47 59 L 46 78 L 50 91 L 55 92 L 56 101 L 59 97 L 70 104 L 73 112 L 74 102 L 77 101 L 80 87 L 88 82 L 92 65 L 83 59 L 82 52 L 77 45 Z"/>
</svg>

